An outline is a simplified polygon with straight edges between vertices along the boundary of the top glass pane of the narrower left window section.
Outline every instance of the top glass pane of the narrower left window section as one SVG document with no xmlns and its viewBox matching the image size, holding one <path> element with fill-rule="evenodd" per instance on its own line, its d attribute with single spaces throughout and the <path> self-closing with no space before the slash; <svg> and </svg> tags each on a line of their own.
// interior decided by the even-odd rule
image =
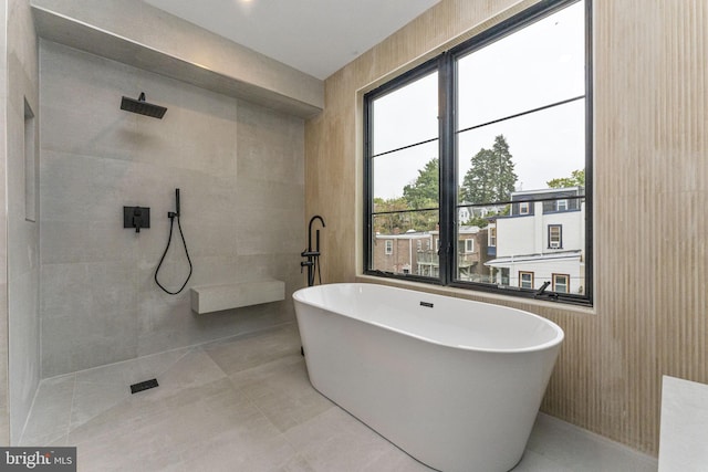
<svg viewBox="0 0 708 472">
<path fill-rule="evenodd" d="M 438 136 L 438 73 L 395 90 L 373 103 L 373 155 Z"/>
</svg>

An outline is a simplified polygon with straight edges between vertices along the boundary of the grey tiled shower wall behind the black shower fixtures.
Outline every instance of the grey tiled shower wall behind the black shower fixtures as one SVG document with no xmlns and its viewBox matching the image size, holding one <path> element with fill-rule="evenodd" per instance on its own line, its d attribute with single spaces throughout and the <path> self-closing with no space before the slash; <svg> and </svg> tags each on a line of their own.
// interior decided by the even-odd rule
<svg viewBox="0 0 708 472">
<path fill-rule="evenodd" d="M 44 40 L 39 67 L 40 378 L 294 319 L 302 118 Z M 126 113 L 145 109 L 140 91 L 162 119 Z M 125 229 L 124 207 L 149 209 L 149 225 Z M 155 282 L 160 258 L 167 291 Z M 189 287 L 262 279 L 283 281 L 285 301 L 190 307 Z M 21 426 L 12 423 L 13 442 Z"/>
</svg>

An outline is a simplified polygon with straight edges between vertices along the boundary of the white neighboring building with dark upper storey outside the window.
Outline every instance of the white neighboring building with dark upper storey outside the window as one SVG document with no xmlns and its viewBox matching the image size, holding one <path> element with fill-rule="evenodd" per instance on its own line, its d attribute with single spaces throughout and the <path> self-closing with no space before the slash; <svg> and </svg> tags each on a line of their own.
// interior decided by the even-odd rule
<svg viewBox="0 0 708 472">
<path fill-rule="evenodd" d="M 488 227 L 492 283 L 582 294 L 585 200 L 582 187 L 517 191 L 509 216 Z"/>
</svg>

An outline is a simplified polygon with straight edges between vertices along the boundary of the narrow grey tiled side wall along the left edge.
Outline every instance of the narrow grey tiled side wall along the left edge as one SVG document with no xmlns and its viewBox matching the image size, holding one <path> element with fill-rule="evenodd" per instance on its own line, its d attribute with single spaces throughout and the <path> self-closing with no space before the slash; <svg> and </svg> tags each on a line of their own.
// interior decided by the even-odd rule
<svg viewBox="0 0 708 472">
<path fill-rule="evenodd" d="M 30 11 L 29 1 L 10 0 L 7 2 L 7 103 L 2 107 L 6 123 L 2 126 L 7 133 L 3 149 L 7 161 L 2 167 L 7 189 L 2 192 L 7 201 L 2 204 L 7 210 L 7 218 L 0 220 L 7 227 L 0 228 L 0 248 L 4 262 L 0 263 L 0 281 L 4 287 L 7 276 L 7 292 L 0 292 L 0 313 L 7 310 L 8 319 L 0 322 L 2 339 L 0 345 L 8 348 L 7 385 L 8 405 L 11 408 L 9 421 L 0 418 L 0 424 L 9 424 L 9 436 L 12 443 L 17 442 L 22 427 L 30 411 L 34 391 L 40 381 L 40 344 L 39 344 L 39 211 L 37 191 L 31 191 L 32 183 L 37 190 L 39 175 L 32 172 L 32 162 L 37 167 L 38 134 L 25 134 L 25 117 L 34 116 L 33 126 L 37 130 L 39 117 L 39 70 L 37 38 Z M 3 25 L 6 22 L 3 21 Z M 30 112 L 31 111 L 31 112 Z M 29 166 L 28 166 L 29 164 Z M 25 174 L 25 167 L 29 172 Z M 30 177 L 27 177 L 29 175 Z M 25 186 L 29 191 L 25 191 Z M 29 201 L 29 204 L 25 204 Z M 0 314 L 0 318 L 3 318 Z M 8 332 L 2 333 L 7 327 Z M 2 375 L 0 374 L 0 380 Z M 0 400 L 0 403 L 2 401 Z M 4 441 L 2 428 L 0 443 Z"/>
</svg>

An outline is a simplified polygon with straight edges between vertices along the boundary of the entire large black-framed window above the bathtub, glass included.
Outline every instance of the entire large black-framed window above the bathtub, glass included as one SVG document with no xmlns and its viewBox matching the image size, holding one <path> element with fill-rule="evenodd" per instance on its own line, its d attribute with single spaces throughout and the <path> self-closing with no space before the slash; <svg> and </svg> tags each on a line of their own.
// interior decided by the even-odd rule
<svg viewBox="0 0 708 472">
<path fill-rule="evenodd" d="M 364 95 L 365 273 L 524 297 L 553 277 L 549 300 L 592 304 L 591 1 L 538 2 Z M 376 235 L 409 233 L 435 241 L 398 254 L 417 270 L 378 266 Z"/>
</svg>

